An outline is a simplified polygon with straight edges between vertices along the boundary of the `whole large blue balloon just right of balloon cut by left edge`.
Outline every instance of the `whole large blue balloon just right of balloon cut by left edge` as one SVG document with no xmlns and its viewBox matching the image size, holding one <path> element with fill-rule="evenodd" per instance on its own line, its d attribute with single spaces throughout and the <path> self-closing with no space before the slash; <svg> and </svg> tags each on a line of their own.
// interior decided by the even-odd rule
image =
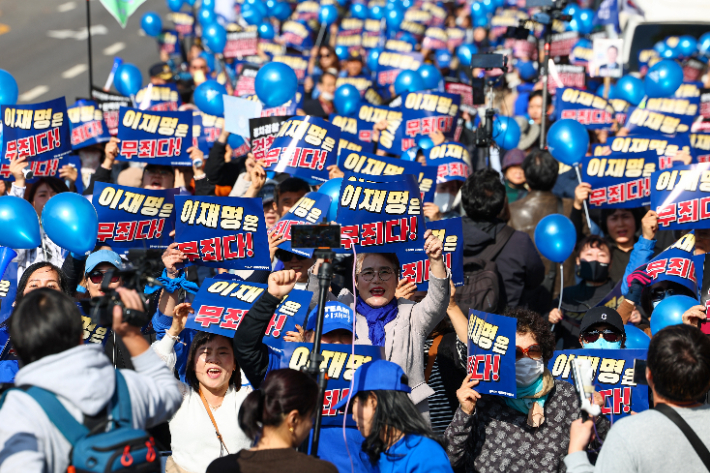
<svg viewBox="0 0 710 473">
<path fill-rule="evenodd" d="M 82 254 L 96 246 L 99 217 L 84 197 L 74 192 L 62 192 L 44 205 L 42 228 L 61 248 Z"/>
</svg>

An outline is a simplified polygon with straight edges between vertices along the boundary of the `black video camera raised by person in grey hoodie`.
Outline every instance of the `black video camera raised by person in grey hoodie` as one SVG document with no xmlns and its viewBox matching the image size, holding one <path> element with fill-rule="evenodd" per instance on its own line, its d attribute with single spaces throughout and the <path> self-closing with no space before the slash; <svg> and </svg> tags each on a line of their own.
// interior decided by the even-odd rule
<svg viewBox="0 0 710 473">
<path fill-rule="evenodd" d="M 135 289 L 143 301 L 143 311 L 124 308 L 123 321 L 136 327 L 146 326 L 150 322 L 150 315 L 147 313 L 143 290 L 146 286 L 162 286 L 155 276 L 162 273 L 161 255 L 161 250 L 129 250 L 128 260 L 130 263 L 117 270 L 106 271 L 101 281 L 101 291 L 104 295 L 92 298 L 89 303 L 89 314 L 92 321 L 103 327 L 111 327 L 113 325 L 113 308 L 115 306 L 124 307 L 121 296 L 115 289 L 109 287 L 111 279 L 115 275 L 119 275 L 123 280 L 121 287 Z"/>
</svg>

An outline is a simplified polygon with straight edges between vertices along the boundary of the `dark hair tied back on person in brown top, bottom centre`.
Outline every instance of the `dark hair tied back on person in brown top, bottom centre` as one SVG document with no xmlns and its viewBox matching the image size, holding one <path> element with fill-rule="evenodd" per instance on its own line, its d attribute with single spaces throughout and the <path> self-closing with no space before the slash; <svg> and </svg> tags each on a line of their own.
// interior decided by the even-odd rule
<svg viewBox="0 0 710 473">
<path fill-rule="evenodd" d="M 252 440 L 264 426 L 279 426 L 284 416 L 296 410 L 302 417 L 318 405 L 318 384 L 305 373 L 292 369 L 269 372 L 261 387 L 249 393 L 239 409 L 239 427 Z"/>
</svg>

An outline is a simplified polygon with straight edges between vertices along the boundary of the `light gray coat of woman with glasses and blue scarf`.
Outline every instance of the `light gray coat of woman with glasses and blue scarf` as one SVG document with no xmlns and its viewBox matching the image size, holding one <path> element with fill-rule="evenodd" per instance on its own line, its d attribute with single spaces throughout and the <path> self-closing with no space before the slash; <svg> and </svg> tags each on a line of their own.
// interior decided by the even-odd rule
<svg viewBox="0 0 710 473">
<path fill-rule="evenodd" d="M 429 402 L 427 398 L 434 394 L 434 390 L 424 380 L 424 342 L 434 328 L 446 316 L 449 306 L 451 287 L 449 280 L 451 272 L 447 269 L 446 279 L 437 279 L 429 275 L 429 290 L 426 297 L 419 302 L 399 298 L 397 308 L 399 313 L 390 323 L 385 325 L 385 356 L 388 361 L 397 363 L 402 367 L 409 378 L 412 388 L 412 401 L 417 404 L 419 411 L 428 416 Z M 313 304 L 318 302 L 318 277 L 313 273 L 308 280 L 308 289 L 313 291 Z M 342 302 L 348 307 L 355 307 L 355 298 L 348 290 L 340 292 L 336 298 L 328 294 L 329 301 Z M 355 330 L 357 340 L 361 345 L 372 345 L 367 326 L 367 319 L 356 314 Z"/>
</svg>

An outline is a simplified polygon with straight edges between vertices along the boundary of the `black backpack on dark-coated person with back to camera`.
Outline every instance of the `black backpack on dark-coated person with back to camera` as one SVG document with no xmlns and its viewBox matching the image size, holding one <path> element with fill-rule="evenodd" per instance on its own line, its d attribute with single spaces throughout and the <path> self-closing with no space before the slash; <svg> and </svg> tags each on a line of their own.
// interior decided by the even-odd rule
<svg viewBox="0 0 710 473">
<path fill-rule="evenodd" d="M 494 244 L 476 256 L 464 256 L 464 285 L 456 289 L 454 299 L 466 316 L 470 309 L 495 314 L 505 307 L 506 299 L 501 297 L 505 293 L 503 279 L 494 260 L 513 233 L 515 230 L 506 225 Z"/>
</svg>

